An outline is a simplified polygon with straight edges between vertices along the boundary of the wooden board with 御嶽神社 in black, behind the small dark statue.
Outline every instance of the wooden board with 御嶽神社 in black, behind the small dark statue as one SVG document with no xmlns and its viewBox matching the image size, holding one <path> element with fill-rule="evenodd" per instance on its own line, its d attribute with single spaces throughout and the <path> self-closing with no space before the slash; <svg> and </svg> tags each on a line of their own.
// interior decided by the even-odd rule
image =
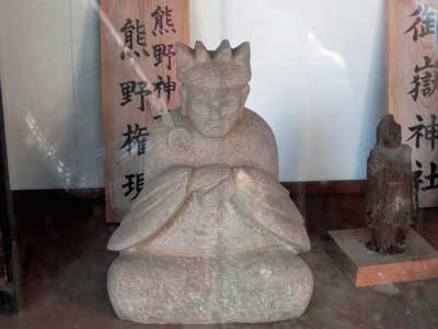
<svg viewBox="0 0 438 329">
<path fill-rule="evenodd" d="M 412 147 L 419 206 L 438 206 L 438 0 L 387 0 L 388 107 Z"/>
</svg>

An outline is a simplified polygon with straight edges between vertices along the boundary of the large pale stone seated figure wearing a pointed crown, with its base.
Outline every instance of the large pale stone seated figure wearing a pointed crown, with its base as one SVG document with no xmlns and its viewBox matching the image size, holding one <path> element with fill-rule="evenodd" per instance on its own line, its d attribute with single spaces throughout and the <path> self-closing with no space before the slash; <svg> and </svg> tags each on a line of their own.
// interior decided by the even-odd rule
<svg viewBox="0 0 438 329">
<path fill-rule="evenodd" d="M 266 322 L 302 315 L 303 218 L 278 181 L 268 125 L 244 107 L 250 45 L 176 46 L 182 107 L 150 133 L 146 184 L 111 237 L 118 317 L 143 324 Z"/>
</svg>

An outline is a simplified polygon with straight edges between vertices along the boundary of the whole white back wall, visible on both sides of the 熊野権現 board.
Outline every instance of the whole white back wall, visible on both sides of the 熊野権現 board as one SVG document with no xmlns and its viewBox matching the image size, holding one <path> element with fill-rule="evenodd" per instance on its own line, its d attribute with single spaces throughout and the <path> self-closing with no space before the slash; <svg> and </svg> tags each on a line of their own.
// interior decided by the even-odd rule
<svg viewBox="0 0 438 329">
<path fill-rule="evenodd" d="M 103 186 L 96 0 L 3 0 L 0 77 L 15 190 Z M 192 44 L 250 41 L 249 107 L 283 181 L 365 178 L 384 111 L 381 0 L 192 0 Z"/>
</svg>

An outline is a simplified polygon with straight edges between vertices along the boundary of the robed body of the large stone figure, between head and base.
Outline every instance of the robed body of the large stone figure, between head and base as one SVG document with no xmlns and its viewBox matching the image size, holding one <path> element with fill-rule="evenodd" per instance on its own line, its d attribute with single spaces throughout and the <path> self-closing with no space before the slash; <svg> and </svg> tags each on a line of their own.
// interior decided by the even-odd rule
<svg viewBox="0 0 438 329">
<path fill-rule="evenodd" d="M 278 182 L 274 135 L 244 110 L 223 138 L 200 135 L 180 110 L 150 134 L 146 184 L 108 249 L 220 257 L 265 247 L 310 249 L 304 222 Z"/>
</svg>

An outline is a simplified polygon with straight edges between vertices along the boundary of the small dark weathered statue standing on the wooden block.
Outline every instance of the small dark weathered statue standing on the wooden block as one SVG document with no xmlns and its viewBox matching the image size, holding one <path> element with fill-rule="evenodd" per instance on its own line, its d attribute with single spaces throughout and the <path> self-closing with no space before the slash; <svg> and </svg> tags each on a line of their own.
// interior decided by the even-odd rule
<svg viewBox="0 0 438 329">
<path fill-rule="evenodd" d="M 401 126 L 385 115 L 377 128 L 377 144 L 367 166 L 368 248 L 380 253 L 404 251 L 405 236 L 417 212 L 417 179 L 411 148 L 402 144 Z"/>
</svg>

